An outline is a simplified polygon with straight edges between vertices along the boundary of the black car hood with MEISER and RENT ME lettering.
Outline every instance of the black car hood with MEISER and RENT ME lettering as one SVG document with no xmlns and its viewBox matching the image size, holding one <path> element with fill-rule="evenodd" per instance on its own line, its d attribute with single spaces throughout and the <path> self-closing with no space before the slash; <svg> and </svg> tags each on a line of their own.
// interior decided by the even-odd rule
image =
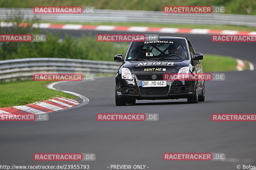
<svg viewBox="0 0 256 170">
<path fill-rule="evenodd" d="M 188 66 L 189 60 L 154 60 L 154 61 L 125 61 L 123 67 L 132 74 L 137 73 L 177 73 L 181 67 Z"/>
</svg>

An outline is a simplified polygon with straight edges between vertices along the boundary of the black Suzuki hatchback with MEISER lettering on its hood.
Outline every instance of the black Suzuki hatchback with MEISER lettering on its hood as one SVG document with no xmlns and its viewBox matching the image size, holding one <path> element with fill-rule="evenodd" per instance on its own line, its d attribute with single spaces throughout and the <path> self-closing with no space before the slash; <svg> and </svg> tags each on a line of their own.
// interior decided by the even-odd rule
<svg viewBox="0 0 256 170">
<path fill-rule="evenodd" d="M 136 100 L 187 99 L 188 103 L 204 101 L 204 80 L 171 79 L 165 75 L 204 73 L 201 53 L 186 37 L 160 36 L 135 39 L 116 73 L 116 106 L 134 104 Z"/>
</svg>

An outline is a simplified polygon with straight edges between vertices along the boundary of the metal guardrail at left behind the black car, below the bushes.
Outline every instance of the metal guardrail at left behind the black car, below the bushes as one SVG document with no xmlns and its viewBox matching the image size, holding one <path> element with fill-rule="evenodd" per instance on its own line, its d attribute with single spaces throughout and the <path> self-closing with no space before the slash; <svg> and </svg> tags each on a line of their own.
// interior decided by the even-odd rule
<svg viewBox="0 0 256 170">
<path fill-rule="evenodd" d="M 115 74 L 121 63 L 69 58 L 22 58 L 0 61 L 0 81 L 32 79 L 35 73 Z"/>
</svg>

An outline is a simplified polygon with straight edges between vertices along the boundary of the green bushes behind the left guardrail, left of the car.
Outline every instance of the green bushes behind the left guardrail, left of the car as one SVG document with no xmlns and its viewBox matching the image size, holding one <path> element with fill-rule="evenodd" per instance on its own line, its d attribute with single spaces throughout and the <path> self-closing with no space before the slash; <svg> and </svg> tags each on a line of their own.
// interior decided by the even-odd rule
<svg viewBox="0 0 256 170">
<path fill-rule="evenodd" d="M 64 39 L 52 33 L 45 33 L 45 42 L 10 42 L 3 43 L 0 48 L 0 60 L 17 58 L 75 58 L 85 60 L 113 61 L 116 54 L 125 54 L 128 44 L 98 42 L 93 36 L 83 35 L 74 39 L 65 35 Z"/>
</svg>

